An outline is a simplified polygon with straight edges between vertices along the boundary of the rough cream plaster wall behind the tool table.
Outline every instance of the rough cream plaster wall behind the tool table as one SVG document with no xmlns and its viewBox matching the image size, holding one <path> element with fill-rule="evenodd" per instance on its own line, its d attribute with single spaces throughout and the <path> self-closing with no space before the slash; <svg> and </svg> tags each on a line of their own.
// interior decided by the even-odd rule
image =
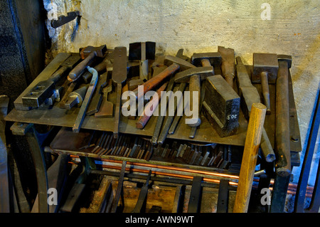
<svg viewBox="0 0 320 227">
<path fill-rule="evenodd" d="M 245 63 L 253 52 L 284 53 L 293 58 L 292 80 L 302 134 L 306 137 L 319 85 L 319 1 L 183 1 L 183 0 L 43 0 L 58 6 L 58 15 L 78 10 L 81 23 L 73 41 L 74 21 L 56 30 L 52 54 L 78 52 L 87 45 L 108 48 L 136 41 L 155 41 L 159 53 L 185 54 L 235 49 Z M 270 20 L 262 20 L 263 3 L 270 4 Z M 50 28 L 50 26 L 49 26 Z"/>
</svg>

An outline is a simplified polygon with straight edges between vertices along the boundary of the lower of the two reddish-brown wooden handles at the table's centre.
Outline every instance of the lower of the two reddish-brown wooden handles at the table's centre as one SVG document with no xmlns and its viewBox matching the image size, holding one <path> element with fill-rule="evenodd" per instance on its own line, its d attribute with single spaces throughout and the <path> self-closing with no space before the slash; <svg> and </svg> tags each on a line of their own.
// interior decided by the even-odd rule
<svg viewBox="0 0 320 227">
<path fill-rule="evenodd" d="M 161 87 L 158 90 L 156 90 L 157 97 L 156 98 L 153 97 L 152 100 L 150 100 L 145 105 L 144 112 L 139 117 L 138 121 L 136 122 L 137 129 L 142 130 L 144 128 L 144 126 L 146 125 L 146 123 L 149 121 L 150 117 L 154 113 L 154 110 L 156 110 L 156 108 L 159 105 L 159 102 L 161 100 L 161 92 L 166 89 L 167 85 L 168 85 L 168 83 L 164 83 L 163 85 L 161 85 Z M 159 108 L 158 108 L 158 110 L 159 110 Z"/>
</svg>

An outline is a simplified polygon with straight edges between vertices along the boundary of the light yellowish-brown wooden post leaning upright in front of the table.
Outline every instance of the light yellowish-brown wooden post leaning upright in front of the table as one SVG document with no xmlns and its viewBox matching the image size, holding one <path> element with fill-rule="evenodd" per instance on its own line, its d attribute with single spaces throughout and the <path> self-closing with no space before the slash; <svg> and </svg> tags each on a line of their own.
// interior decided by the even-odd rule
<svg viewBox="0 0 320 227">
<path fill-rule="evenodd" d="M 252 104 L 233 213 L 246 213 L 249 206 L 266 110 L 267 107 L 261 103 Z"/>
</svg>

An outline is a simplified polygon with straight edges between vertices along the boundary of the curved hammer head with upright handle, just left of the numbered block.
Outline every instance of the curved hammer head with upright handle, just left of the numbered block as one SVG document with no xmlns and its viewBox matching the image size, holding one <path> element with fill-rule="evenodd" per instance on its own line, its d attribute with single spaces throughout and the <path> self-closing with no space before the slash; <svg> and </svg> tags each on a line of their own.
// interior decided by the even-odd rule
<svg viewBox="0 0 320 227">
<path fill-rule="evenodd" d="M 199 75 L 200 80 L 204 80 L 208 76 L 213 75 L 213 67 L 206 66 L 206 67 L 189 68 L 187 70 L 183 70 L 179 73 L 176 73 L 176 75 L 174 76 L 174 82 L 188 83 L 192 75 Z"/>
</svg>

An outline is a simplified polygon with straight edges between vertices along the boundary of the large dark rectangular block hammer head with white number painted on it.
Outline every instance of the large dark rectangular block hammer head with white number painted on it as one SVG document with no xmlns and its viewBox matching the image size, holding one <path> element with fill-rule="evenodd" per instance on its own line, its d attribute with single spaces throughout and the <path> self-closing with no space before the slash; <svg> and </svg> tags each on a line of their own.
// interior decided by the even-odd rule
<svg viewBox="0 0 320 227">
<path fill-rule="evenodd" d="M 203 114 L 220 137 L 236 134 L 239 128 L 240 97 L 221 75 L 206 79 Z"/>
</svg>

